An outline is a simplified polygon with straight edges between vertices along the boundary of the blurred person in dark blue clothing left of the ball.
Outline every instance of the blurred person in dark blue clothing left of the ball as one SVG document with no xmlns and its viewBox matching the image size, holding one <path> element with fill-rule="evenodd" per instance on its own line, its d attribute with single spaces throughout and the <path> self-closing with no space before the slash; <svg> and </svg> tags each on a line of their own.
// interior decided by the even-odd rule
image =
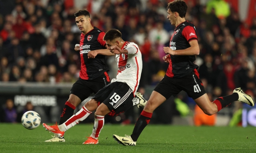
<svg viewBox="0 0 256 153">
<path fill-rule="evenodd" d="M 17 112 L 11 99 L 6 100 L 6 108 L 4 109 L 4 122 L 16 122 Z"/>
</svg>

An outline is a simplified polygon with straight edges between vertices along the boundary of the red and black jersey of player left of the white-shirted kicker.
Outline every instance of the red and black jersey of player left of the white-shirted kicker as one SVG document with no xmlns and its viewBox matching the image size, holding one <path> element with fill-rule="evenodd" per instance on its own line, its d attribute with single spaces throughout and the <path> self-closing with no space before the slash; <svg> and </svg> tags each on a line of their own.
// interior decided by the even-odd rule
<svg viewBox="0 0 256 153">
<path fill-rule="evenodd" d="M 81 71 L 79 77 L 84 80 L 93 80 L 104 72 L 109 71 L 106 65 L 105 55 L 97 55 L 94 59 L 88 59 L 88 52 L 98 49 L 106 49 L 106 42 L 103 40 L 105 33 L 94 27 L 85 35 L 81 34 L 80 57 Z"/>
</svg>

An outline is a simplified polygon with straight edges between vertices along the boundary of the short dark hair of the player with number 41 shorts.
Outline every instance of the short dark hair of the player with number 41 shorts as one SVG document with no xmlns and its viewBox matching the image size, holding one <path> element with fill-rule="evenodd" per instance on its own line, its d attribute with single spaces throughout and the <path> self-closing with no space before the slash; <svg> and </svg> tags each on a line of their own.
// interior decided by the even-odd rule
<svg viewBox="0 0 256 153">
<path fill-rule="evenodd" d="M 183 0 L 175 0 L 173 2 L 168 3 L 167 10 L 169 9 L 172 12 L 178 12 L 180 18 L 185 18 L 187 13 L 187 4 Z"/>
</svg>

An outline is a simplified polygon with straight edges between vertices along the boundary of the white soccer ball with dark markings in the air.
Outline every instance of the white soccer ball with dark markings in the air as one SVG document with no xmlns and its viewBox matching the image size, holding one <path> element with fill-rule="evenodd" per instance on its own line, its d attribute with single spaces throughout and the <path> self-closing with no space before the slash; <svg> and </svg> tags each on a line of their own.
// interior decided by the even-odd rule
<svg viewBox="0 0 256 153">
<path fill-rule="evenodd" d="M 28 111 L 23 114 L 21 118 L 21 124 L 26 129 L 35 129 L 37 128 L 41 123 L 41 117 L 37 112 L 34 111 Z"/>
</svg>

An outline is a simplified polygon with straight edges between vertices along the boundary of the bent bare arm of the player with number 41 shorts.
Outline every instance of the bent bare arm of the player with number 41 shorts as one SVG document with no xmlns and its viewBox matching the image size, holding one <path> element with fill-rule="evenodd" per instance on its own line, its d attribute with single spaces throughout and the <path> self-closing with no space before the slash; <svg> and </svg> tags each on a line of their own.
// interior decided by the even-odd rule
<svg viewBox="0 0 256 153">
<path fill-rule="evenodd" d="M 170 47 L 164 47 L 164 52 L 170 55 L 199 55 L 200 49 L 197 40 L 189 42 L 191 47 L 183 50 L 172 50 Z"/>
</svg>

